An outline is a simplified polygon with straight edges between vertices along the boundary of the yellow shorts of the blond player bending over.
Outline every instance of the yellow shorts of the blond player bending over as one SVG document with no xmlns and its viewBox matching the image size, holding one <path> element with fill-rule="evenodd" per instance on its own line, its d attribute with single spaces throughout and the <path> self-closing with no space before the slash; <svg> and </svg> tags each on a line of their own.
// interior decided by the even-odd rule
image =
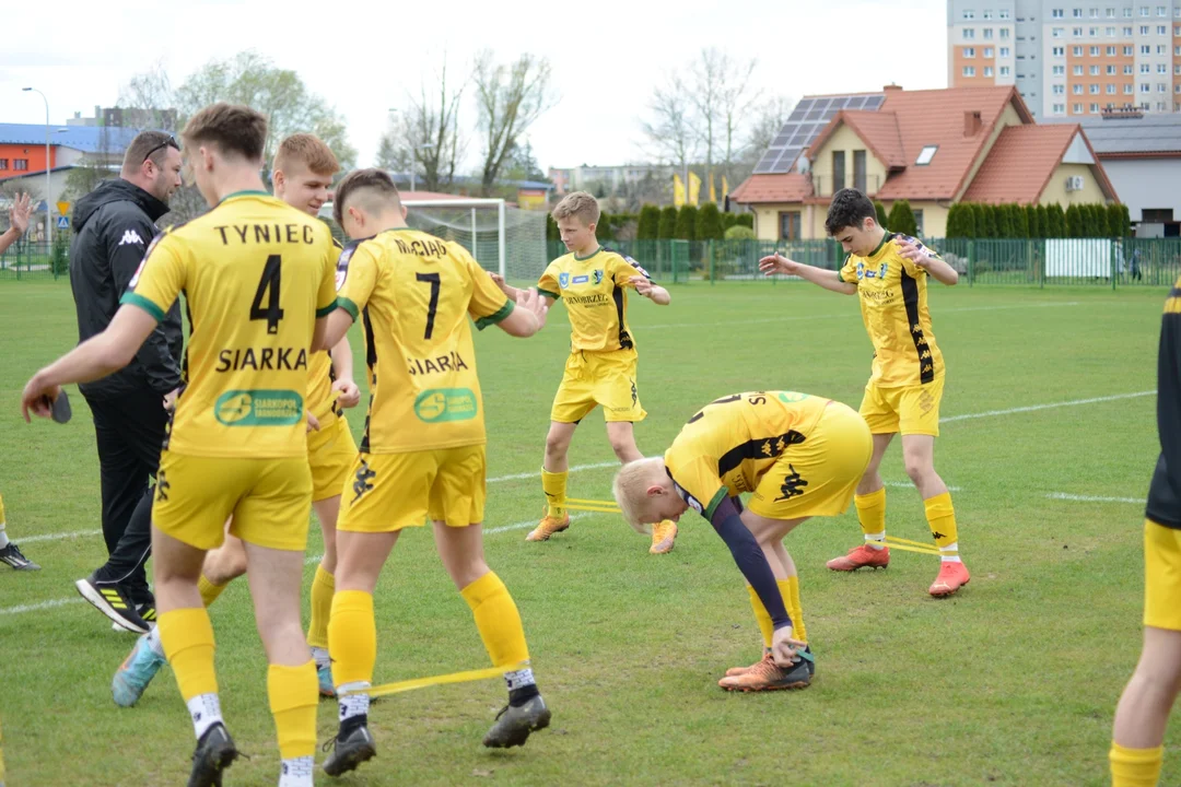
<svg viewBox="0 0 1181 787">
<path fill-rule="evenodd" d="M 844 513 L 873 452 L 864 420 L 834 401 L 808 439 L 790 446 L 758 479 L 748 507 L 768 519 Z"/>
</svg>

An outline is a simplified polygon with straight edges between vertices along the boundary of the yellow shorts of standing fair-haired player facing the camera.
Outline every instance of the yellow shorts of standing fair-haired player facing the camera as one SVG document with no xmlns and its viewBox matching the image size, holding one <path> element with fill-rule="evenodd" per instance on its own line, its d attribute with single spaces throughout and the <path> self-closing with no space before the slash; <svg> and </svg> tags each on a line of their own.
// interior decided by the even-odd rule
<svg viewBox="0 0 1181 787">
<path fill-rule="evenodd" d="M 608 422 L 642 421 L 647 413 L 635 388 L 635 361 L 634 349 L 570 353 L 549 420 L 578 424 L 602 405 L 602 418 Z"/>
</svg>

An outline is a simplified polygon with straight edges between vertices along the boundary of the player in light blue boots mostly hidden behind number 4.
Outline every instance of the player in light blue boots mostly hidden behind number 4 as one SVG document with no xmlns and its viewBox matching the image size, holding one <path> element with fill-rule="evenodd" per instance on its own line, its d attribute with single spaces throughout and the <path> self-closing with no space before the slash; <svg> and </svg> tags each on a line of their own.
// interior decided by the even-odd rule
<svg viewBox="0 0 1181 787">
<path fill-rule="evenodd" d="M 327 202 L 332 176 L 340 170 L 322 140 L 313 135 L 296 133 L 279 144 L 272 179 L 275 196 L 308 216 L 318 216 Z M 324 557 L 312 582 L 312 622 L 307 642 L 312 647 L 320 694 L 332 696 L 332 665 L 328 658 L 328 614 L 332 610 L 333 572 L 337 566 L 337 512 L 340 490 L 357 455 L 357 444 L 344 418 L 345 407 L 360 401 L 353 382 L 353 355 L 348 339 L 342 337 L 328 353 L 314 353 L 308 360 L 308 413 L 317 427 L 307 434 L 308 461 L 312 466 L 312 509 L 324 533 Z M 227 523 L 227 529 L 229 523 Z M 0 553 L 2 559 L 2 553 Z M 226 586 L 246 573 L 246 546 L 228 533 L 226 542 L 205 555 L 201 570 L 201 599 L 208 608 Z M 111 681 L 111 696 L 120 707 L 138 702 L 148 684 L 164 664 L 159 629 L 139 637 Z"/>
</svg>

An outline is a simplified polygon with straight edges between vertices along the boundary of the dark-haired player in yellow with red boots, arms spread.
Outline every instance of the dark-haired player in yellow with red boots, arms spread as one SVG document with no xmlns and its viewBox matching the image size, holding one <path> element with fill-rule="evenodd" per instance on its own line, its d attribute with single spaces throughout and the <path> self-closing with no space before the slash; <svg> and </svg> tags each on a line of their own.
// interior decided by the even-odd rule
<svg viewBox="0 0 1181 787">
<path fill-rule="evenodd" d="M 789 274 L 835 293 L 856 294 L 874 345 L 873 374 L 861 400 L 861 417 L 874 433 L 874 458 L 854 498 L 864 543 L 829 560 L 828 568 L 856 571 L 889 563 L 886 486 L 877 468 L 894 434 L 901 432 L 906 474 L 922 497 L 927 524 L 940 552 L 939 576 L 929 592 L 951 596 L 967 584 L 970 576 L 959 556 L 952 498 L 935 472 L 945 375 L 927 311 L 927 278 L 951 286 L 959 275 L 918 240 L 887 232 L 877 224 L 873 203 L 855 189 L 833 195 L 824 229 L 849 255 L 841 270 L 834 274 L 777 254 L 761 260 L 759 268 L 768 275 Z"/>
</svg>

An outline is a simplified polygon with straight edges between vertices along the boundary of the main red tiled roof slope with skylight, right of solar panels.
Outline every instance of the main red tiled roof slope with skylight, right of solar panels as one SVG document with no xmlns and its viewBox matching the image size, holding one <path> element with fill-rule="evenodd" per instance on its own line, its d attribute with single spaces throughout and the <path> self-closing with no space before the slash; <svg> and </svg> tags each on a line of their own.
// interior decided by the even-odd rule
<svg viewBox="0 0 1181 787">
<path fill-rule="evenodd" d="M 1010 104 L 1023 123 L 1033 123 L 1012 86 L 886 91 L 881 111 L 898 116 L 906 169 L 890 175 L 875 195 L 877 199 L 952 199 Z M 967 112 L 980 113 L 980 129 L 971 137 L 964 135 Z M 927 145 L 938 145 L 934 158 L 924 166 L 915 165 Z"/>
</svg>

